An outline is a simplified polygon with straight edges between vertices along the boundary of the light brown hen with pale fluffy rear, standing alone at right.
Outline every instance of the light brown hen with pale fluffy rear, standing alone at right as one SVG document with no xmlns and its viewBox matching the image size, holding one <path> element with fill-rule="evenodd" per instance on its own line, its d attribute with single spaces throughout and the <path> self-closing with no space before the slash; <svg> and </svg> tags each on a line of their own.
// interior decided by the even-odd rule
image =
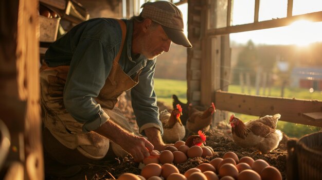
<svg viewBox="0 0 322 180">
<path fill-rule="evenodd" d="M 276 129 L 280 114 L 266 115 L 259 119 L 243 123 L 231 114 L 229 124 L 235 143 L 244 148 L 255 148 L 253 154 L 267 154 L 277 148 L 283 135 Z"/>
</svg>

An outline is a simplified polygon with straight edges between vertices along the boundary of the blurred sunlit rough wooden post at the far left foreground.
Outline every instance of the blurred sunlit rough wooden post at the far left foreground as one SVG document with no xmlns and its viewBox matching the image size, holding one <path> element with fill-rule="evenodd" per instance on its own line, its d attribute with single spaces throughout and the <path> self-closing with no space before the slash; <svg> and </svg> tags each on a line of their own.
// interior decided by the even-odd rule
<svg viewBox="0 0 322 180">
<path fill-rule="evenodd" d="M 43 179 L 39 91 L 39 24 L 37 0 L 0 3 L 0 118 L 11 136 L 7 179 L 11 168 L 24 166 L 24 179 Z"/>
</svg>

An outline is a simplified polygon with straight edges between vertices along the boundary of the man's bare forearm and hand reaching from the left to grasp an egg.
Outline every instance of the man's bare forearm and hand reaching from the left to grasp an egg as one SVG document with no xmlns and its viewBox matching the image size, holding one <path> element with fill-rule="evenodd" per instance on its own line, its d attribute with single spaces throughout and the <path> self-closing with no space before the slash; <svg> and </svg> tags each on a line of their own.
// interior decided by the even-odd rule
<svg viewBox="0 0 322 180">
<path fill-rule="evenodd" d="M 112 121 L 102 124 L 95 132 L 120 145 L 133 156 L 135 162 L 142 162 L 144 157 L 148 157 L 154 149 L 153 145 L 146 138 L 126 131 Z"/>
</svg>

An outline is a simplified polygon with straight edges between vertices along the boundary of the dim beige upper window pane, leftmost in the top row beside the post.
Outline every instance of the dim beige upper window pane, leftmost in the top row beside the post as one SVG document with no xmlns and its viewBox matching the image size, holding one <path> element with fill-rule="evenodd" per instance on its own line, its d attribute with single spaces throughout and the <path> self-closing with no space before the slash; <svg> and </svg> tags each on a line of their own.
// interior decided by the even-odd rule
<svg viewBox="0 0 322 180">
<path fill-rule="evenodd" d="M 218 0 L 212 3 L 209 10 L 208 28 L 223 28 L 227 25 L 227 0 Z M 217 16 L 216 16 L 217 15 Z"/>
</svg>

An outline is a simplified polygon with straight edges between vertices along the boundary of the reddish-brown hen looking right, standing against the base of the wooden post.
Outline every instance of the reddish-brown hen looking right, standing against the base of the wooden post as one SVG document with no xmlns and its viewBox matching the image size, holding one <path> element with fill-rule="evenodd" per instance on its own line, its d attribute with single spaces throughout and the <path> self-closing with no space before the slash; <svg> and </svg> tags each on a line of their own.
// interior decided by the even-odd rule
<svg viewBox="0 0 322 180">
<path fill-rule="evenodd" d="M 205 111 L 200 111 L 192 107 L 191 104 L 189 104 L 188 110 L 189 118 L 187 119 L 186 124 L 188 131 L 192 133 L 196 133 L 199 130 L 207 132 L 210 129 L 210 124 L 212 121 L 211 115 L 216 112 L 216 108 L 214 107 L 213 103 L 211 103 L 211 106 Z"/>
</svg>

